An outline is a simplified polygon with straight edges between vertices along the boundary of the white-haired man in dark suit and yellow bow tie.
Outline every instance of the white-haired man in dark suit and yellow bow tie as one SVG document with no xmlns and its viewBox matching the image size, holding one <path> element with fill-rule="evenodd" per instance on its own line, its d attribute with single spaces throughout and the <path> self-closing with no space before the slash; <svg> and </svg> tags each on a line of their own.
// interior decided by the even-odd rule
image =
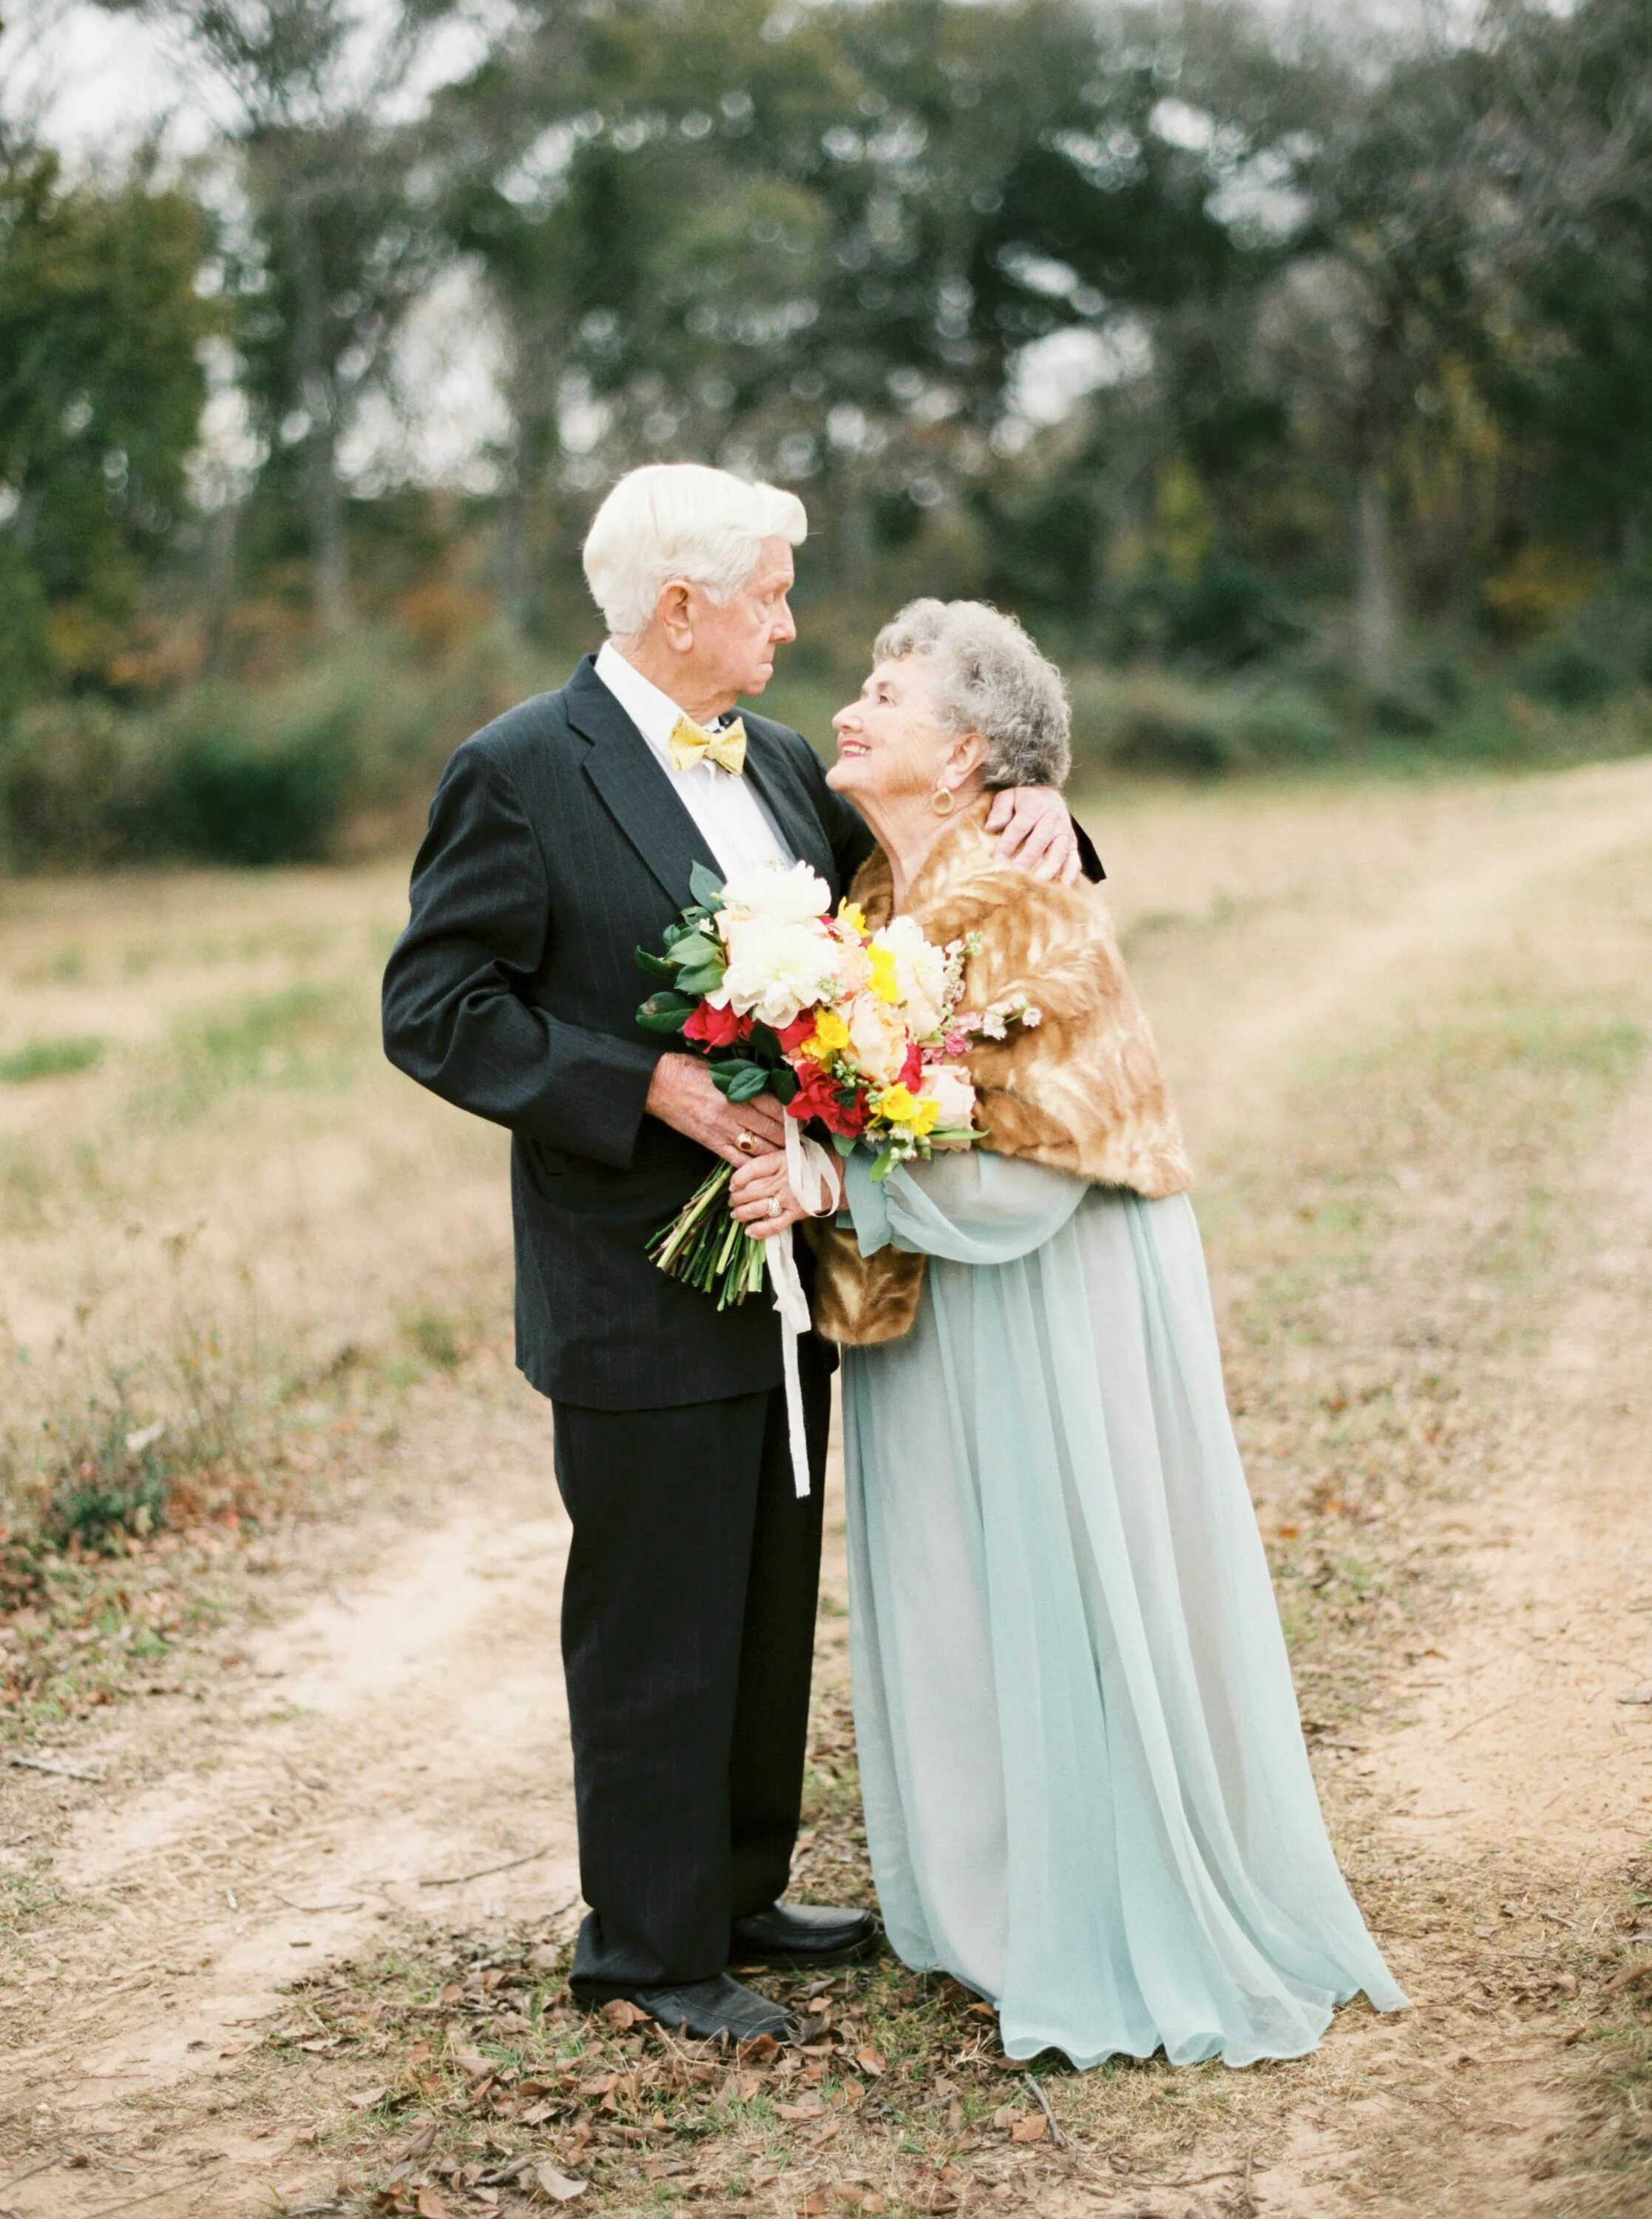
<svg viewBox="0 0 1652 2219">
<path fill-rule="evenodd" d="M 581 2002 L 692 2035 L 785 2035 L 734 1964 L 836 1964 L 865 1911 L 785 1906 L 820 1569 L 829 1358 L 805 1342 L 814 1489 L 787 1456 L 778 1320 L 656 1271 L 650 1234 L 705 1176 L 781 1145 L 634 1016 L 639 945 L 694 863 L 807 859 L 847 888 L 871 837 L 814 750 L 747 715 L 796 637 L 803 504 L 696 464 L 634 470 L 585 539 L 608 644 L 450 759 L 384 981 L 392 1063 L 512 1134 L 517 1362 L 554 1405 L 572 1518 L 563 1660 L 574 1742 Z M 1060 797 L 1007 837 L 1069 872 Z"/>
</svg>

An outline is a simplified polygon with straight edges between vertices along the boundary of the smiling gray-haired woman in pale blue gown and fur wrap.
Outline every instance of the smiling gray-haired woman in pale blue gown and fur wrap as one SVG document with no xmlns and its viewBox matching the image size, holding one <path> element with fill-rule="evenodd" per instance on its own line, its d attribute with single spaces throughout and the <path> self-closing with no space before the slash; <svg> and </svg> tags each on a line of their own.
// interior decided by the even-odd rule
<svg viewBox="0 0 1652 2219">
<path fill-rule="evenodd" d="M 1009 617 L 914 601 L 836 717 L 869 921 L 978 934 L 982 1141 L 820 1243 L 843 1367 L 854 1706 L 889 1937 L 1005 2048 L 1313 2050 L 1404 2004 L 1337 1871 L 1222 1387 L 1191 1172 L 1095 888 L 1007 870 L 991 794 L 1060 786 L 1060 675 Z"/>
</svg>

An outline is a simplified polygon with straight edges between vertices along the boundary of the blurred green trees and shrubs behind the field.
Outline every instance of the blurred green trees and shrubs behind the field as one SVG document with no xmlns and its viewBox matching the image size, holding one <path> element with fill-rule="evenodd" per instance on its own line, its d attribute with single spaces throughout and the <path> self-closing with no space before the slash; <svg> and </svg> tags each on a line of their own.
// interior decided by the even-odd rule
<svg viewBox="0 0 1652 2219">
<path fill-rule="evenodd" d="M 1098 761 L 1652 726 L 1652 0 L 521 0 L 448 82 L 448 0 L 142 4 L 211 155 L 0 138 L 16 861 L 399 837 L 592 644 L 583 524 L 654 457 L 803 490 L 816 739 L 914 590 L 1093 672 Z M 468 490 L 419 317 L 497 388 Z"/>
</svg>

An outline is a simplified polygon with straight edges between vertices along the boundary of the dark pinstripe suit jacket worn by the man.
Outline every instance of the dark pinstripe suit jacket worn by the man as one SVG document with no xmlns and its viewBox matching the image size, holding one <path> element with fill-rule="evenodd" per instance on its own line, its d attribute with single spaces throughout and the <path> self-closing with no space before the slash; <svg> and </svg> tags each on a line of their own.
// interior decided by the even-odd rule
<svg viewBox="0 0 1652 2219">
<path fill-rule="evenodd" d="M 798 732 L 765 717 L 745 730 L 745 774 L 836 899 L 871 834 Z M 665 1043 L 636 1025 L 634 950 L 687 908 L 694 863 L 716 868 L 588 659 L 455 752 L 384 974 L 390 1061 L 510 1127 L 517 1362 L 541 1394 L 594 1409 L 781 1380 L 765 1298 L 718 1316 L 645 1254 L 712 1161 L 643 1114 Z"/>
</svg>

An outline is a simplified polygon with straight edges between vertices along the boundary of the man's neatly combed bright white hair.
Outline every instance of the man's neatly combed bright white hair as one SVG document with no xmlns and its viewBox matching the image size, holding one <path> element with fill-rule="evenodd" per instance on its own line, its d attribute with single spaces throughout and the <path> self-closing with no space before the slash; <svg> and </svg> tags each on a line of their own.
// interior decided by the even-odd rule
<svg viewBox="0 0 1652 2219">
<path fill-rule="evenodd" d="M 650 462 L 610 490 L 585 533 L 585 584 L 614 639 L 654 617 L 661 588 L 683 577 L 727 601 L 756 570 L 765 539 L 800 546 L 803 501 L 701 462 Z"/>
</svg>

